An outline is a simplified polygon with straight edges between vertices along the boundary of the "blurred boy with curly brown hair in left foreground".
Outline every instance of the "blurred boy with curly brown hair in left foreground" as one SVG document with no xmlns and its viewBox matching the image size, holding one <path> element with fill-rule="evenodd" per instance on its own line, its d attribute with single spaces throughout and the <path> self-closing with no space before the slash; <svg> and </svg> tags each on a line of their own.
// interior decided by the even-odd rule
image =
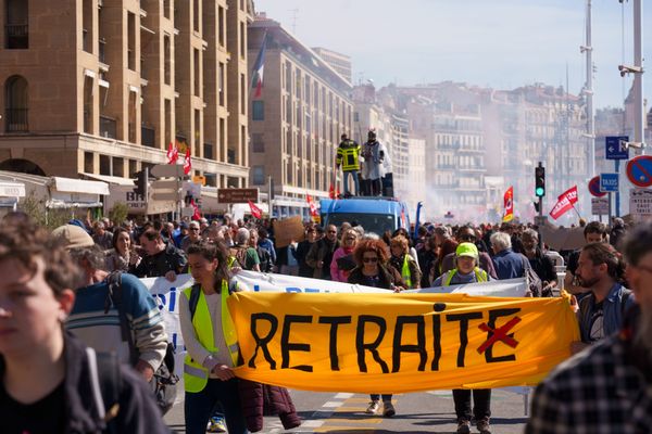
<svg viewBox="0 0 652 434">
<path fill-rule="evenodd" d="M 0 272 L 3 433 L 170 432 L 136 373 L 64 331 L 82 276 L 55 240 L 29 222 L 3 225 Z M 104 401 L 100 384 L 117 400 Z"/>
</svg>

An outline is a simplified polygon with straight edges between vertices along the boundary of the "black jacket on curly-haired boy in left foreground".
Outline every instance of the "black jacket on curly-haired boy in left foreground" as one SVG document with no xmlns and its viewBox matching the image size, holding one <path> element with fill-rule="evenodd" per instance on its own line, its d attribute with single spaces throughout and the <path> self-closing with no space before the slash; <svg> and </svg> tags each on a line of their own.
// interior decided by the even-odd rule
<svg viewBox="0 0 652 434">
<path fill-rule="evenodd" d="M 65 434 L 90 433 L 170 433 L 161 411 L 154 403 L 152 391 L 136 372 L 127 366 L 120 370 L 118 410 L 110 431 L 100 419 L 95 405 L 91 374 L 86 346 L 70 333 L 64 335 L 65 359 L 64 408 Z M 4 375 L 4 359 L 0 357 L 0 378 Z M 106 407 L 110 404 L 105 404 Z"/>
</svg>

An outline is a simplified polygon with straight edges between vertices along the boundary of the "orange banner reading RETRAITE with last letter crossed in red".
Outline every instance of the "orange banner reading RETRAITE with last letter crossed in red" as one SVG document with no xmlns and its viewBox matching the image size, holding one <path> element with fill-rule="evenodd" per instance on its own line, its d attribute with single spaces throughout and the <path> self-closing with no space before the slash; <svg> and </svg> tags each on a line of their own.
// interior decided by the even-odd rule
<svg viewBox="0 0 652 434">
<path fill-rule="evenodd" d="M 570 355 L 569 297 L 234 293 L 236 375 L 315 392 L 538 384 Z"/>
</svg>

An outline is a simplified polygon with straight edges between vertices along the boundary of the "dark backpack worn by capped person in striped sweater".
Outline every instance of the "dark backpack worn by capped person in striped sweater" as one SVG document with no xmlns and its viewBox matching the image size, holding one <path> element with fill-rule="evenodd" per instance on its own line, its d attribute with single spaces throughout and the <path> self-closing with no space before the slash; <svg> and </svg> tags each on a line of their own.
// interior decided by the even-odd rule
<svg viewBox="0 0 652 434">
<path fill-rule="evenodd" d="M 111 304 L 115 306 L 120 316 L 120 329 L 123 342 L 129 345 L 129 360 L 131 366 L 138 361 L 138 348 L 134 343 L 134 336 L 129 330 L 127 312 L 123 308 L 123 292 L 122 292 L 122 272 L 114 271 L 106 277 L 109 283 L 109 295 L 104 306 L 104 314 L 109 311 Z M 177 383 L 179 381 L 178 375 L 174 373 L 174 345 L 168 342 L 167 348 L 165 348 L 165 357 L 163 362 L 154 372 L 151 385 L 154 392 L 154 398 L 156 405 L 163 414 L 165 414 L 176 399 Z"/>
</svg>

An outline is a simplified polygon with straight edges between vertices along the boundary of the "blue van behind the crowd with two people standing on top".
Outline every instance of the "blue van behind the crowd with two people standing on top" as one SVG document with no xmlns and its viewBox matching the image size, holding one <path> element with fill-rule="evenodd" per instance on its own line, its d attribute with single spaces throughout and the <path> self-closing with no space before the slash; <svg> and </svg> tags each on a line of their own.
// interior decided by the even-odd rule
<svg viewBox="0 0 652 434">
<path fill-rule="evenodd" d="M 344 221 L 360 225 L 365 233 L 380 237 L 386 231 L 393 232 L 399 228 L 410 231 L 408 205 L 393 197 L 350 197 L 343 200 L 323 199 L 321 217 L 324 227 L 339 227 Z"/>
</svg>

